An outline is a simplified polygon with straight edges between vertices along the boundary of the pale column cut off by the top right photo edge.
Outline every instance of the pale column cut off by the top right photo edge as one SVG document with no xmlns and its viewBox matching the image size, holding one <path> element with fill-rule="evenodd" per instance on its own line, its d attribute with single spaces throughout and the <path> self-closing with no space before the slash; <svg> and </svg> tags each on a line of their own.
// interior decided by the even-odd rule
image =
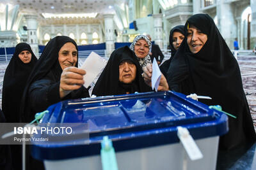
<svg viewBox="0 0 256 170">
<path fill-rule="evenodd" d="M 251 0 L 252 20 L 251 20 L 251 47 L 256 45 L 256 0 Z"/>
</svg>

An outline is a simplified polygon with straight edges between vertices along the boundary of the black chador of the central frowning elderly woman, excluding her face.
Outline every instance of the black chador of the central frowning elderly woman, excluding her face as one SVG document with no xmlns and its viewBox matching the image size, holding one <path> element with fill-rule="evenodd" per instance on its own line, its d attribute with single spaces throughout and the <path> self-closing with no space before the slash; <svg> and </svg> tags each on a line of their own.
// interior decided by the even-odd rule
<svg viewBox="0 0 256 170">
<path fill-rule="evenodd" d="M 130 60 L 136 66 L 135 80 L 126 85 L 119 81 L 119 64 L 124 60 Z M 111 53 L 108 64 L 100 74 L 92 94 L 96 96 L 111 96 L 125 94 L 127 89 L 129 89 L 130 93 L 149 92 L 151 89 L 145 84 L 141 73 L 143 72 L 135 53 L 128 46 L 118 48 Z"/>
</svg>

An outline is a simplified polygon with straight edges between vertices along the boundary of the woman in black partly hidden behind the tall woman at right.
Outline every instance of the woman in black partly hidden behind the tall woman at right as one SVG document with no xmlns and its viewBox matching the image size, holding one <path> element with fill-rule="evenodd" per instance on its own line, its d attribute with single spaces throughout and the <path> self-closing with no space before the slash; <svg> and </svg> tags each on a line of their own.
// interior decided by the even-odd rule
<svg viewBox="0 0 256 170">
<path fill-rule="evenodd" d="M 170 36 L 169 36 L 169 43 L 170 43 L 170 48 L 171 48 L 171 57 L 170 59 L 164 61 L 163 64 L 160 66 L 161 72 L 164 74 L 165 77 L 167 77 L 167 71 L 170 66 L 170 63 L 173 59 L 173 56 L 179 49 L 182 41 L 184 39 L 184 25 L 177 25 L 173 27 L 170 31 Z"/>
</svg>

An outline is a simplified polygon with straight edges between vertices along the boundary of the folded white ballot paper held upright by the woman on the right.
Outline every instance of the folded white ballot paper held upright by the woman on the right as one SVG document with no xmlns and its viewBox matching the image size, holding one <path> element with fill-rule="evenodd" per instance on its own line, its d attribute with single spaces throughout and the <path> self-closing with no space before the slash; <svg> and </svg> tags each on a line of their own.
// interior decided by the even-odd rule
<svg viewBox="0 0 256 170">
<path fill-rule="evenodd" d="M 157 92 L 157 89 L 158 89 L 158 85 L 160 83 L 161 75 L 162 75 L 162 73 L 159 69 L 156 58 L 154 58 L 153 64 L 152 64 L 151 83 L 152 83 L 152 90 L 155 89 L 156 92 Z"/>
</svg>

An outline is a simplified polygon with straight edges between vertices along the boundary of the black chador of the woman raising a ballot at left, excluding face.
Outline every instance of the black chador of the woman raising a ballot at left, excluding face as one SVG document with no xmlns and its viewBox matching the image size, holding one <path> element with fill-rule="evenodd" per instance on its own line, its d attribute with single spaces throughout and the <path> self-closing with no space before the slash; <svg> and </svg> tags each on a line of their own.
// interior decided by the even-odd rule
<svg viewBox="0 0 256 170">
<path fill-rule="evenodd" d="M 75 90 L 73 90 L 63 99 L 60 98 L 60 79 L 62 69 L 58 56 L 61 47 L 66 43 L 74 44 L 78 51 L 76 42 L 67 36 L 56 36 L 45 46 L 44 52 L 42 52 L 40 59 L 36 63 L 31 76 L 29 76 L 28 83 L 24 90 L 22 104 L 20 105 L 20 113 L 23 118 L 22 122 L 31 122 L 34 119 L 36 112 L 44 111 L 51 104 L 63 99 L 90 97 L 88 90 L 84 89 L 82 86 L 79 89 L 81 90 L 81 93 L 76 93 L 74 92 Z M 76 67 L 77 66 L 78 64 L 76 62 Z M 79 95 L 77 96 L 77 94 Z"/>
</svg>

